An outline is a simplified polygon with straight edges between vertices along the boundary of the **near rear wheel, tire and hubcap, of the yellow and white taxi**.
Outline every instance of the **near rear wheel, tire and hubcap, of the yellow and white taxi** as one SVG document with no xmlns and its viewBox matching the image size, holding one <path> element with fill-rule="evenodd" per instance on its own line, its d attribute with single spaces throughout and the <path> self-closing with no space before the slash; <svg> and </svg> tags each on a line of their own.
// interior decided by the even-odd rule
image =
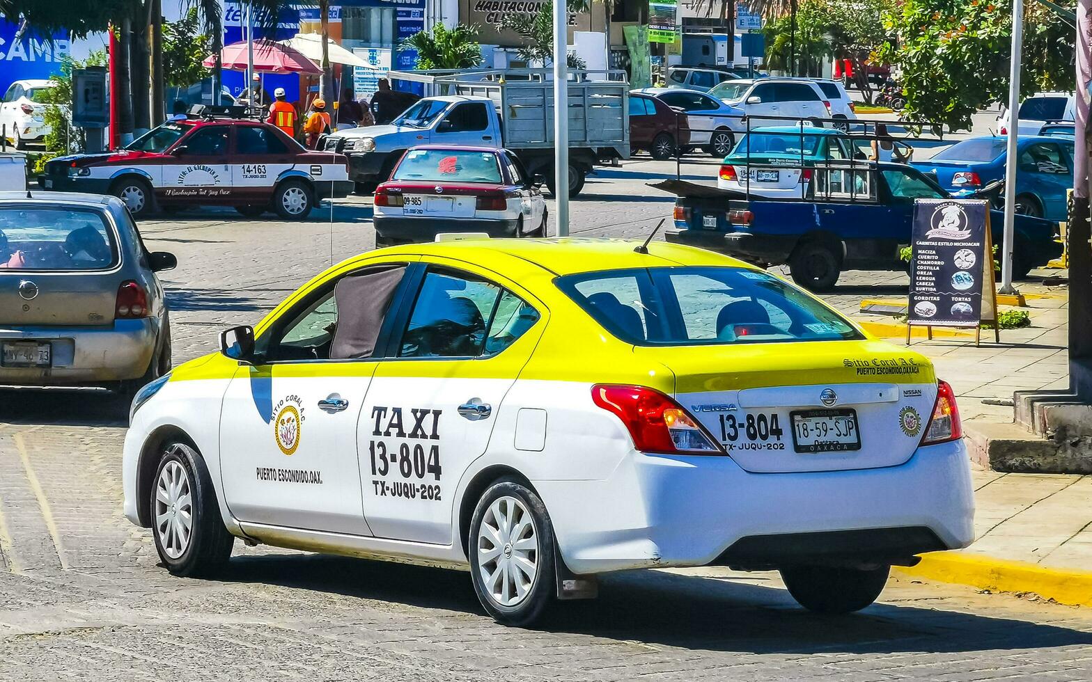
<svg viewBox="0 0 1092 682">
<path fill-rule="evenodd" d="M 471 522 L 471 578 L 499 623 L 525 625 L 554 598 L 554 527 L 546 505 L 515 479 L 490 486 Z"/>
</svg>

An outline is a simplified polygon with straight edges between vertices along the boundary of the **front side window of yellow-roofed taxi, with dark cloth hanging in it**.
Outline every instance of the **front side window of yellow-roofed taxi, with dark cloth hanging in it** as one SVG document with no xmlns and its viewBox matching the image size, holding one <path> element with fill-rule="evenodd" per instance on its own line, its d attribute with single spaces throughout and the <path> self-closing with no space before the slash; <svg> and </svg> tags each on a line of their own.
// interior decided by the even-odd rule
<svg viewBox="0 0 1092 682">
<path fill-rule="evenodd" d="M 370 358 L 404 274 L 405 266 L 394 265 L 342 277 L 285 313 L 287 323 L 259 342 L 261 355 L 270 362 Z"/>
</svg>

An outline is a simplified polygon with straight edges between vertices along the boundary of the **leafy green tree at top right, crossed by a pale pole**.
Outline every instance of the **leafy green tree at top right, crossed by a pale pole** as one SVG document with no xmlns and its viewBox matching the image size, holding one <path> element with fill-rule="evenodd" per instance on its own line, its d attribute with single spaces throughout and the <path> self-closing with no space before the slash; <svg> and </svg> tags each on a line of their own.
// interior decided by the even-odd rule
<svg viewBox="0 0 1092 682">
<path fill-rule="evenodd" d="M 998 2 L 995 4 L 995 2 Z M 1063 0 L 1065 8 L 1076 0 Z M 1024 15 L 1021 95 L 1072 89 L 1071 24 L 1029 2 Z M 1012 15 L 999 0 L 903 0 L 885 15 L 898 41 L 877 57 L 899 67 L 906 108 L 903 117 L 941 132 L 970 129 L 971 116 L 1009 94 Z"/>
</svg>

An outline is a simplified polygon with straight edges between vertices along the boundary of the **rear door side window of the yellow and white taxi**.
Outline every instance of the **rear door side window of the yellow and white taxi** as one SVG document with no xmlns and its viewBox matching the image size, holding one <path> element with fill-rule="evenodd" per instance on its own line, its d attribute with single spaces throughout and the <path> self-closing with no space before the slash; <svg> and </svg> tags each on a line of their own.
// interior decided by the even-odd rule
<svg viewBox="0 0 1092 682">
<path fill-rule="evenodd" d="M 492 356 L 538 321 L 538 311 L 511 291 L 470 274 L 425 275 L 402 335 L 402 358 Z"/>
</svg>

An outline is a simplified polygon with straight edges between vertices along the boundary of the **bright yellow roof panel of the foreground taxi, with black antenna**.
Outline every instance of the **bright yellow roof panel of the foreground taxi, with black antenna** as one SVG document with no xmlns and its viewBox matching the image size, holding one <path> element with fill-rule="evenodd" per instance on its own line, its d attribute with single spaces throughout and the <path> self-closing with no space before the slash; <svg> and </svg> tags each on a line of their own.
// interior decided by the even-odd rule
<svg viewBox="0 0 1092 682">
<path fill-rule="evenodd" d="M 653 241 L 649 253 L 638 253 L 643 239 L 565 237 L 560 239 L 460 239 L 395 247 L 391 253 L 443 255 L 488 265 L 497 256 L 512 256 L 557 275 L 672 265 L 734 265 L 749 267 L 735 259 L 695 247 Z"/>
</svg>

